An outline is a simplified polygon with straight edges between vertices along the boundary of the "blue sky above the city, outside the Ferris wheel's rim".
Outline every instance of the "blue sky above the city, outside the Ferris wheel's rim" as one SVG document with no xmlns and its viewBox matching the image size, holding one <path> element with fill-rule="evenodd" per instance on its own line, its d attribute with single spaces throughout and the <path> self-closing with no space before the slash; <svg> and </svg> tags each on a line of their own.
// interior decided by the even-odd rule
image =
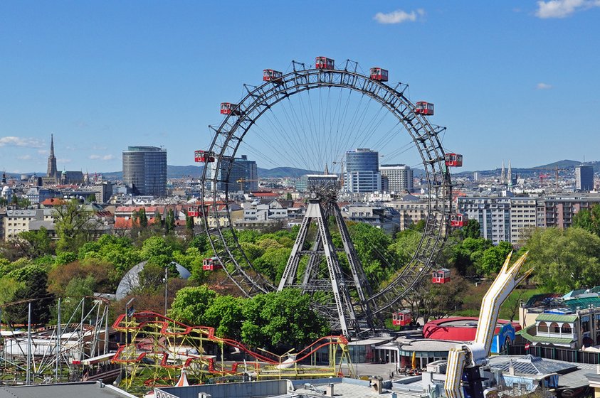
<svg viewBox="0 0 600 398">
<path fill-rule="evenodd" d="M 316 55 L 435 103 L 464 170 L 600 160 L 599 21 L 597 0 L 2 1 L 0 168 L 45 171 L 51 134 L 60 170 L 132 145 L 193 164 L 220 102 Z"/>
</svg>

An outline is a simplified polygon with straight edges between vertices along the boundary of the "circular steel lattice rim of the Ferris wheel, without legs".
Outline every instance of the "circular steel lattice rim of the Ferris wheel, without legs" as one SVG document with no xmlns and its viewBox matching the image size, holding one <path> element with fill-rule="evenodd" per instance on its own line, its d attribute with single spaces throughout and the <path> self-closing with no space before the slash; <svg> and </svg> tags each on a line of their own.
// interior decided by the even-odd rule
<svg viewBox="0 0 600 398">
<path fill-rule="evenodd" d="M 304 64 L 295 61 L 293 65 L 294 70 L 276 82 L 265 82 L 260 86 L 244 85 L 248 94 L 241 99 L 233 112 L 225 117 L 219 127 L 210 127 L 215 133 L 209 148 L 209 151 L 215 154 L 214 169 L 219 171 L 224 160 L 236 156 L 243 137 L 261 115 L 291 95 L 312 89 L 340 87 L 367 95 L 388 109 L 404 125 L 419 150 L 429 193 L 425 227 L 414 257 L 406 267 L 396 273 L 387 286 L 367 297 L 367 303 L 362 303 L 368 304 L 374 315 L 390 311 L 394 304 L 409 294 L 411 288 L 428 274 L 446 240 L 451 217 L 452 184 L 450 172 L 444 161 L 443 147 L 438 138 L 446 127 L 430 124 L 426 117 L 414 112 L 415 105 L 404 95 L 408 85 L 398 83 L 391 87 L 384 82 L 371 80 L 369 76 L 357 72 L 357 63 L 347 60 L 344 69 L 340 70 L 306 69 Z M 353 67 L 349 68 L 351 65 Z M 246 296 L 275 291 L 275 286 L 253 268 L 241 249 L 233 230 L 229 203 L 226 203 L 224 209 L 229 225 L 221 227 L 218 206 L 206 200 L 209 193 L 213 200 L 219 198 L 219 183 L 225 183 L 225 196 L 228 198 L 226 182 L 233 162 L 226 161 L 224 173 L 216 172 L 213 176 L 207 173 L 208 164 L 205 164 L 202 172 L 201 205 L 207 216 L 203 217 L 204 227 L 216 257 L 219 257 L 231 281 Z M 211 216 L 216 220 L 216 227 L 209 225 Z"/>
</svg>

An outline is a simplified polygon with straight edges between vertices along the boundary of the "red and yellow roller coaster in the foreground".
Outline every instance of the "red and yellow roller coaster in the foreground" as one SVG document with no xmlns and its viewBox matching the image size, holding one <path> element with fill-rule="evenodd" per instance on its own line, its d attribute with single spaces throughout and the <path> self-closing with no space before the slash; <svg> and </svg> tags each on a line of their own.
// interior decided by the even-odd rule
<svg viewBox="0 0 600 398">
<path fill-rule="evenodd" d="M 346 362 L 354 376 L 344 336 L 325 336 L 298 353 L 275 355 L 266 350 L 257 353 L 236 340 L 218 338 L 214 328 L 187 326 L 150 311 L 122 314 L 112 327 L 125 333 L 130 342 L 120 345 L 112 357 L 112 362 L 127 367 L 121 382 L 128 390 L 172 385 L 182 370 L 192 383 L 337 377 Z M 225 353 L 230 351 L 238 353 L 241 360 L 225 362 Z M 327 353 L 328 365 L 310 365 L 323 353 Z M 283 360 L 285 356 L 288 358 Z M 300 365 L 305 362 L 309 365 Z"/>
</svg>

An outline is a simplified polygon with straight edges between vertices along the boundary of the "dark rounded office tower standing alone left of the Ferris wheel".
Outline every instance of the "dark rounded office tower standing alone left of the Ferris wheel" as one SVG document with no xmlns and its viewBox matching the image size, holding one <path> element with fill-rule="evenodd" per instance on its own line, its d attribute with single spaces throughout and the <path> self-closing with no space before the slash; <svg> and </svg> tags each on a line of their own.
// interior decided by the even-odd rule
<svg viewBox="0 0 600 398">
<path fill-rule="evenodd" d="M 167 151 L 130 146 L 123 151 L 123 182 L 134 195 L 167 195 Z"/>
</svg>

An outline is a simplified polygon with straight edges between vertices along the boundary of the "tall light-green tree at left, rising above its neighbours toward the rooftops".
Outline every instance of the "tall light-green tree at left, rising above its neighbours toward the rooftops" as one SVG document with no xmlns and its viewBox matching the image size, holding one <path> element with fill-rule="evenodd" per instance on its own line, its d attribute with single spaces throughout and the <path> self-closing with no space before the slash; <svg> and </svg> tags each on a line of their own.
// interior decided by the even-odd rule
<svg viewBox="0 0 600 398">
<path fill-rule="evenodd" d="M 77 252 L 85 242 L 91 240 L 98 226 L 94 213 L 85 210 L 76 199 L 56 205 L 53 216 L 58 235 L 56 249 L 60 252 Z"/>
</svg>

